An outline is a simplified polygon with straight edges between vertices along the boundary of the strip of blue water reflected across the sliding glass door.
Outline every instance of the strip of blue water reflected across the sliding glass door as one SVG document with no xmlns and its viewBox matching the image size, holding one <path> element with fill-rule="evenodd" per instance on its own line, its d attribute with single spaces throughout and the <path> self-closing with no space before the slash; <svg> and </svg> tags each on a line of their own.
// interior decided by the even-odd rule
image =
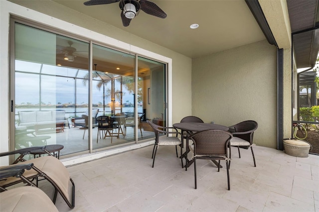
<svg viewBox="0 0 319 212">
<path fill-rule="evenodd" d="M 94 107 L 94 108 L 99 108 L 99 114 L 103 114 L 103 107 Z M 56 110 L 56 109 L 61 109 L 65 110 L 65 117 L 68 118 L 72 115 L 74 115 L 75 108 L 74 107 L 45 107 L 42 108 L 42 110 Z M 37 111 L 39 108 L 15 108 L 15 118 L 18 119 L 18 111 Z M 86 107 L 77 107 L 76 108 L 76 113 L 78 116 L 81 116 L 86 112 L 87 108 Z M 134 113 L 134 107 L 122 107 L 123 112 L 132 112 Z M 115 108 L 115 113 L 121 112 L 121 107 L 116 107 Z M 143 112 L 143 107 L 138 107 L 138 112 L 142 113 Z M 110 107 L 105 107 L 105 114 L 111 113 L 111 108 Z"/>
</svg>

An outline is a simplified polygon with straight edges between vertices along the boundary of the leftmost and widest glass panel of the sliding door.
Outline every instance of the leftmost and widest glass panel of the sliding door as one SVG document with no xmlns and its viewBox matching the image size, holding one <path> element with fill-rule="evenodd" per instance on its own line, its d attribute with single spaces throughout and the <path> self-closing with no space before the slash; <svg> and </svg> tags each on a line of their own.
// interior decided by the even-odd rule
<svg viewBox="0 0 319 212">
<path fill-rule="evenodd" d="M 83 114 L 88 108 L 83 79 L 89 73 L 89 44 L 21 23 L 14 26 L 14 147 L 61 144 L 60 156 L 87 151 L 86 123 L 77 108 Z M 86 73 L 83 79 L 76 76 L 79 69 Z"/>
</svg>

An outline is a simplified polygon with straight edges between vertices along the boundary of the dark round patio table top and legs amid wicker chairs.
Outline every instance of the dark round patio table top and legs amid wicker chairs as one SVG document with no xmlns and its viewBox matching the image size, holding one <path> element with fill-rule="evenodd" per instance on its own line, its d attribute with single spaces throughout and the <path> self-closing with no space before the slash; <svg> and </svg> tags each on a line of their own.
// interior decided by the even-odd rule
<svg viewBox="0 0 319 212">
<path fill-rule="evenodd" d="M 173 127 L 177 129 L 181 129 L 182 131 L 187 132 L 187 134 L 191 135 L 194 132 L 203 131 L 207 129 L 220 129 L 228 131 L 227 126 L 223 126 L 220 124 L 211 124 L 211 123 L 200 123 L 200 122 L 181 122 L 181 123 L 174 123 Z M 186 151 L 183 153 L 182 157 L 186 159 L 186 155 L 190 151 L 189 147 L 186 145 Z M 216 166 L 218 166 L 218 162 L 215 160 L 211 160 Z M 193 160 L 186 161 L 185 167 L 189 167 L 193 163 Z M 222 168 L 221 165 L 219 165 Z"/>
</svg>

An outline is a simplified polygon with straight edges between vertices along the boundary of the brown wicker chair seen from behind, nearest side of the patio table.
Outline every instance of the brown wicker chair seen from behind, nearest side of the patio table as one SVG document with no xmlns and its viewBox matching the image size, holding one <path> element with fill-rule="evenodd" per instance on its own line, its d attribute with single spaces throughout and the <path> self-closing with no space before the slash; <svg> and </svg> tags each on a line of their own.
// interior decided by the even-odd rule
<svg viewBox="0 0 319 212">
<path fill-rule="evenodd" d="M 219 129 L 203 130 L 187 136 L 186 145 L 188 145 L 190 151 L 193 153 L 192 161 L 194 163 L 195 189 L 197 189 L 196 160 L 206 159 L 218 160 L 218 172 L 220 169 L 220 160 L 226 161 L 228 190 L 230 190 L 229 163 L 231 150 L 229 148 L 229 142 L 232 137 L 233 136 L 230 132 Z M 189 145 L 189 140 L 192 140 L 193 144 Z"/>
</svg>

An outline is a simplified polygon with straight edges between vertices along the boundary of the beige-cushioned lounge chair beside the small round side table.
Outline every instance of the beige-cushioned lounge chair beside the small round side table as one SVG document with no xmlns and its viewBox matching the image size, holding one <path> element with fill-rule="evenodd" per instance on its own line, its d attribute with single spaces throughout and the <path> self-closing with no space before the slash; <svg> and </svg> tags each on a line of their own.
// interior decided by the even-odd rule
<svg viewBox="0 0 319 212">
<path fill-rule="evenodd" d="M 44 179 L 49 181 L 55 189 L 53 203 L 55 203 L 57 193 L 59 193 L 64 199 L 64 201 L 66 202 L 66 204 L 71 209 L 73 209 L 74 201 L 75 201 L 75 185 L 69 175 L 69 172 L 67 171 L 65 166 L 59 161 L 59 159 L 52 156 L 38 157 L 38 158 L 34 158 L 27 161 L 23 159 L 23 156 L 29 154 L 31 151 L 38 150 L 38 149 L 45 150 L 45 146 L 44 147 L 29 147 L 29 148 L 19 149 L 19 150 L 15 150 L 11 152 L 3 152 L 3 153 L 0 153 L 0 157 L 20 154 L 20 156 L 17 157 L 17 159 L 13 162 L 13 164 L 18 162 L 19 162 L 18 165 L 33 163 L 32 169 L 26 170 L 23 173 L 23 176 L 30 181 L 36 179 L 36 185 L 37 185 L 38 177 L 43 177 Z M 51 155 L 49 152 L 47 153 Z M 14 166 L 14 165 L 11 165 L 11 166 Z M 6 178 L 5 181 L 0 181 L 0 187 L 6 188 L 8 186 L 15 185 L 22 181 L 23 180 L 20 178 L 8 177 Z"/>
</svg>

